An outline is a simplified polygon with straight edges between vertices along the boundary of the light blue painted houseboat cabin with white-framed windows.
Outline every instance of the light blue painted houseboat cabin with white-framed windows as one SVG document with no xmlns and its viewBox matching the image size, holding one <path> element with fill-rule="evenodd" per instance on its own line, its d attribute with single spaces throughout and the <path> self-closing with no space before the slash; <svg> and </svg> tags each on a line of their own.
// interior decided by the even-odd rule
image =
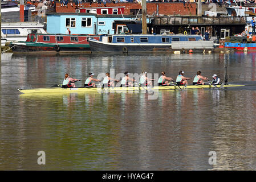
<svg viewBox="0 0 256 182">
<path fill-rule="evenodd" d="M 47 32 L 49 34 L 116 34 L 115 20 L 134 19 L 127 15 L 96 15 L 90 13 L 49 13 L 47 14 Z M 125 25 L 123 25 L 125 26 Z"/>
</svg>

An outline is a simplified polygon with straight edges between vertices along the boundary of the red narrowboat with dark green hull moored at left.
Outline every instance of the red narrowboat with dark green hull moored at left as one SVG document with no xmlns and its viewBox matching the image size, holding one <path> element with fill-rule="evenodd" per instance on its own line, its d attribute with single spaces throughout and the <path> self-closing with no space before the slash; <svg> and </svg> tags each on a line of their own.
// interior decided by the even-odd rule
<svg viewBox="0 0 256 182">
<path fill-rule="evenodd" d="M 29 34 L 26 41 L 11 42 L 13 52 L 81 52 L 90 51 L 88 39 L 99 40 L 98 35 Z"/>
</svg>

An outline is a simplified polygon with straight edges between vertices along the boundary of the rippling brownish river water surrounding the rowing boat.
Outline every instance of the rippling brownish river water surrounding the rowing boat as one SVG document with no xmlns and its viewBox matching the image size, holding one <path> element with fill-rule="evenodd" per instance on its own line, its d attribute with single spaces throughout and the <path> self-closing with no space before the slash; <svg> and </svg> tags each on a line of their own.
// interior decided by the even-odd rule
<svg viewBox="0 0 256 182">
<path fill-rule="evenodd" d="M 255 64 L 255 53 L 14 55 L 0 64 L 0 169 L 255 170 Z M 229 82 L 247 86 L 160 91 L 155 100 L 148 93 L 17 90 L 60 84 L 66 72 L 84 82 L 111 68 L 173 78 L 181 69 L 187 77 L 200 70 L 223 80 L 225 66 Z"/>
</svg>

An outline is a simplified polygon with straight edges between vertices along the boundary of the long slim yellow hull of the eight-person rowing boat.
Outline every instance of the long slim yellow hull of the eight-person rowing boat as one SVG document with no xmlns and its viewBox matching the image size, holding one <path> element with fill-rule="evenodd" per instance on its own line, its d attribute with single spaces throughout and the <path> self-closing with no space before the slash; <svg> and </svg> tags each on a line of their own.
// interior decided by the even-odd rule
<svg viewBox="0 0 256 182">
<path fill-rule="evenodd" d="M 220 88 L 221 85 L 216 85 Z M 244 85 L 224 85 L 224 87 L 237 87 Z M 216 88 L 214 85 L 187 85 L 180 86 L 181 89 L 200 89 L 200 88 Z M 82 92 L 139 92 L 140 90 L 146 91 L 157 91 L 157 90 L 179 90 L 178 86 L 154 86 L 154 87 L 145 87 L 145 86 L 131 86 L 131 87 L 113 87 L 113 88 L 38 88 L 38 89 L 18 89 L 22 93 L 82 93 Z"/>
</svg>

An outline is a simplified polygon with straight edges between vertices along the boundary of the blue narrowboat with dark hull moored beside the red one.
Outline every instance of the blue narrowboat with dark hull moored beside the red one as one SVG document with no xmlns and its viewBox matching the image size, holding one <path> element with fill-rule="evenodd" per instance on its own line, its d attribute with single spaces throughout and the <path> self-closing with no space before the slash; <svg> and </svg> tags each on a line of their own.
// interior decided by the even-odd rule
<svg viewBox="0 0 256 182">
<path fill-rule="evenodd" d="M 200 35 L 100 35 L 99 40 L 90 38 L 92 52 L 148 52 L 154 48 L 172 48 L 174 41 L 203 40 Z"/>
</svg>

